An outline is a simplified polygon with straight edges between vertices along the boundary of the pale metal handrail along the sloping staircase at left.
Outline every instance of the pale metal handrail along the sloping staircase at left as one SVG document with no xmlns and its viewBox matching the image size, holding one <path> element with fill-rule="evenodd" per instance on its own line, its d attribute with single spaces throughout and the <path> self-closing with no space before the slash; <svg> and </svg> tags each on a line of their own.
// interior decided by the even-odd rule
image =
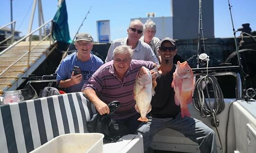
<svg viewBox="0 0 256 153">
<path fill-rule="evenodd" d="M 17 42 L 14 42 L 12 45 L 10 45 L 8 48 L 6 48 L 5 50 L 0 52 L 0 55 L 2 55 L 4 52 L 9 51 L 11 48 L 13 48 L 14 46 L 16 46 L 18 43 L 25 41 L 26 38 L 29 38 L 29 46 L 28 46 L 28 51 L 25 52 L 20 58 L 18 58 L 16 61 L 14 61 L 12 64 L 9 65 L 9 67 L 5 68 L 1 73 L 0 76 L 2 74 L 4 74 L 10 67 L 12 67 L 14 64 L 16 64 L 20 59 L 22 59 L 24 56 L 27 56 L 27 67 L 29 67 L 29 58 L 30 58 L 30 51 L 33 50 L 35 47 L 37 47 L 38 44 L 40 44 L 41 42 L 43 42 L 44 40 L 46 40 L 46 38 L 50 37 L 50 41 L 49 41 L 49 45 L 52 44 L 52 32 L 50 32 L 49 34 L 45 35 L 45 37 L 40 40 L 39 42 L 37 42 L 36 45 L 33 45 L 33 47 L 31 47 L 31 42 L 32 42 L 32 34 L 34 34 L 35 32 L 37 32 L 38 30 L 40 30 L 41 28 L 45 28 L 45 26 L 50 23 L 52 21 L 49 20 L 47 21 L 45 24 L 43 24 L 42 26 L 39 26 L 37 29 L 35 29 L 34 31 L 32 31 L 31 33 L 27 34 L 26 36 L 24 36 L 23 38 L 21 38 L 20 40 L 18 40 Z M 52 22 L 51 22 L 51 27 L 52 27 Z M 51 28 L 52 29 L 52 28 Z"/>
</svg>

